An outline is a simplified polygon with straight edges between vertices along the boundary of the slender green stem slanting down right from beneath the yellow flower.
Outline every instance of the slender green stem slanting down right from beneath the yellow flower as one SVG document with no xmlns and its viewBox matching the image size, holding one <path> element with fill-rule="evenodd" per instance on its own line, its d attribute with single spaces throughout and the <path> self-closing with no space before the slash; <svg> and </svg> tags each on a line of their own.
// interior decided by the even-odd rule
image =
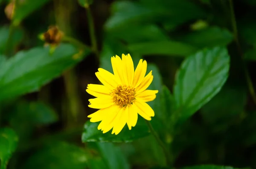
<svg viewBox="0 0 256 169">
<path fill-rule="evenodd" d="M 148 120 L 145 120 L 148 128 L 151 132 L 151 134 L 155 137 L 155 139 L 157 140 L 157 143 L 162 147 L 163 152 L 166 156 L 166 163 L 168 166 L 172 166 L 172 156 L 169 152 L 169 150 L 166 148 L 165 144 L 163 143 L 163 141 L 160 139 L 159 135 L 157 134 L 157 132 L 153 129 L 153 126 L 151 125 L 151 123 Z"/>
</svg>

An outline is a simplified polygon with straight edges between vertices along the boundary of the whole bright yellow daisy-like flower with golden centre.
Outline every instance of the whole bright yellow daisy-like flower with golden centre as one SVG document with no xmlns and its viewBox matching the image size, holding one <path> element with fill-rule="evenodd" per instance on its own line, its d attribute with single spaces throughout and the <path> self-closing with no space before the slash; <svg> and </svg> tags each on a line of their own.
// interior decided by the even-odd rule
<svg viewBox="0 0 256 169">
<path fill-rule="evenodd" d="M 96 77 L 103 85 L 88 84 L 86 92 L 95 96 L 89 99 L 90 108 L 99 109 L 89 115 L 91 122 L 101 123 L 98 129 L 116 135 L 127 123 L 128 128 L 137 123 L 138 114 L 146 120 L 154 117 L 154 110 L 145 103 L 156 98 L 158 90 L 146 90 L 153 80 L 152 71 L 146 76 L 147 62 L 140 60 L 135 72 L 131 55 L 111 57 L 113 73 L 99 68 Z"/>
</svg>

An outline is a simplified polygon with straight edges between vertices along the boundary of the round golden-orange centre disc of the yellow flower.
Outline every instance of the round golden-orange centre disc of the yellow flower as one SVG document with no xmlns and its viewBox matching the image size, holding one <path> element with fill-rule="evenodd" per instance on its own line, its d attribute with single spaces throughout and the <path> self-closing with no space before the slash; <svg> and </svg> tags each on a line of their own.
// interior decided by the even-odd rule
<svg viewBox="0 0 256 169">
<path fill-rule="evenodd" d="M 135 89 L 131 86 L 118 85 L 111 93 L 113 102 L 118 106 L 131 104 L 134 100 Z"/>
</svg>

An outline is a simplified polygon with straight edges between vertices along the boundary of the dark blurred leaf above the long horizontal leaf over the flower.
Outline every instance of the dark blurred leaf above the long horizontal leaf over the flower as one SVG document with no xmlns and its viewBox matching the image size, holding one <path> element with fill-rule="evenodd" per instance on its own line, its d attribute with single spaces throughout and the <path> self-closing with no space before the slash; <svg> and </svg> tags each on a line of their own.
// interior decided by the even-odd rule
<svg viewBox="0 0 256 169">
<path fill-rule="evenodd" d="M 120 29 L 108 31 L 108 34 L 111 34 L 112 37 L 115 37 L 116 40 L 124 40 L 128 44 L 147 42 L 147 41 L 160 41 L 160 40 L 169 40 L 168 35 L 157 26 L 150 25 L 137 25 L 133 24 L 130 26 L 124 26 Z"/>
</svg>

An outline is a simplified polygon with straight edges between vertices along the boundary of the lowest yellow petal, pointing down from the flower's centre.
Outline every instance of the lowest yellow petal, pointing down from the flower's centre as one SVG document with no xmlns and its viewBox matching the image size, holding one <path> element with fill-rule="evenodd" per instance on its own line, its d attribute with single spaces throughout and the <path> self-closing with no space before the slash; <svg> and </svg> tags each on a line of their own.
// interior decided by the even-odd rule
<svg viewBox="0 0 256 169">
<path fill-rule="evenodd" d="M 125 114 L 125 108 L 122 108 L 113 123 L 113 130 L 111 134 L 117 135 L 124 128 L 127 121 L 127 115 Z"/>
</svg>

